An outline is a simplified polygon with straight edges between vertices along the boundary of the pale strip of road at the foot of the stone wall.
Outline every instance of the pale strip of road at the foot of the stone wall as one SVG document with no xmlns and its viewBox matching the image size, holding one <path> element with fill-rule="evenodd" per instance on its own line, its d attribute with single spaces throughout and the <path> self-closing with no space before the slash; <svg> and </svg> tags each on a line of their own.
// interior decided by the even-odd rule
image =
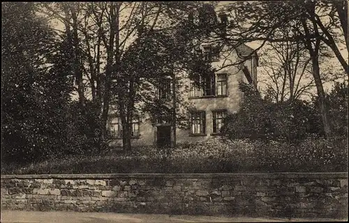
<svg viewBox="0 0 349 223">
<path fill-rule="evenodd" d="M 314 221 L 294 219 L 291 222 Z M 328 220 L 315 220 L 328 221 Z M 117 223 L 117 222 L 290 222 L 281 218 L 213 217 L 191 215 L 147 215 L 121 213 L 77 213 L 1 210 L 1 223 Z"/>
</svg>

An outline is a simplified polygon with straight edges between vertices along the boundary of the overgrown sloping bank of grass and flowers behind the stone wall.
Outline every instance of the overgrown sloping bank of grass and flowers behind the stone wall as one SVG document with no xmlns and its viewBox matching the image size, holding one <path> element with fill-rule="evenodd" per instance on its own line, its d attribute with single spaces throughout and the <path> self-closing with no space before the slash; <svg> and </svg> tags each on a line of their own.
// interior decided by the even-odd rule
<svg viewBox="0 0 349 223">
<path fill-rule="evenodd" d="M 348 139 L 306 139 L 298 145 L 281 141 L 229 141 L 158 150 L 142 147 L 131 153 L 72 156 L 36 164 L 6 166 L 2 174 L 98 174 L 98 173 L 259 173 L 278 171 L 347 171 Z"/>
</svg>

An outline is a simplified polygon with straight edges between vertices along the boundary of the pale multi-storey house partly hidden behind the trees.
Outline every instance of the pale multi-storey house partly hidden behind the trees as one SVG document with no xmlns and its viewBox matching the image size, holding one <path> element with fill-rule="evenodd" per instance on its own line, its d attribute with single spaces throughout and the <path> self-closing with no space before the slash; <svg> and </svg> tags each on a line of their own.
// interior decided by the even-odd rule
<svg viewBox="0 0 349 223">
<path fill-rule="evenodd" d="M 179 128 L 171 118 L 140 118 L 132 122 L 132 146 L 174 146 L 216 137 L 220 134 L 223 118 L 228 113 L 238 112 L 243 96 L 239 82 L 257 86 L 258 55 L 247 45 L 240 45 L 227 55 L 220 52 L 212 54 L 211 49 L 210 45 L 202 46 L 205 55 L 214 56 L 214 59 L 211 58 L 212 67 L 223 69 L 217 69 L 219 71 L 204 80 L 205 84 L 201 87 L 186 79 L 183 91 L 179 91 L 181 97 L 192 107 L 188 111 L 188 128 Z M 225 67 L 225 63 L 236 63 L 246 56 L 249 57 L 243 63 Z M 171 102 L 174 88 L 170 78 L 168 84 L 165 84 L 168 87 L 158 91 L 158 97 Z M 108 128 L 111 132 L 110 145 L 122 146 L 121 120 L 117 114 L 111 115 Z"/>
</svg>

